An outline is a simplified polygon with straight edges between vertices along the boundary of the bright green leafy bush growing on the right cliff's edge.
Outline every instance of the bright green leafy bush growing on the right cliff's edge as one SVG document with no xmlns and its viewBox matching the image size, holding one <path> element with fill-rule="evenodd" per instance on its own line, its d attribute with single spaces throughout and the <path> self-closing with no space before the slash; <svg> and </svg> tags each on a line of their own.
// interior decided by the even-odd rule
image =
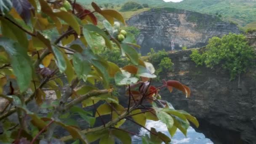
<svg viewBox="0 0 256 144">
<path fill-rule="evenodd" d="M 248 45 L 244 35 L 229 33 L 222 38 L 213 37 L 203 53 L 193 50 L 191 59 L 197 65 L 205 64 L 206 67 L 216 69 L 221 67 L 229 71 L 230 79 L 234 79 L 249 67 L 253 67 L 256 58 L 255 51 Z"/>
</svg>

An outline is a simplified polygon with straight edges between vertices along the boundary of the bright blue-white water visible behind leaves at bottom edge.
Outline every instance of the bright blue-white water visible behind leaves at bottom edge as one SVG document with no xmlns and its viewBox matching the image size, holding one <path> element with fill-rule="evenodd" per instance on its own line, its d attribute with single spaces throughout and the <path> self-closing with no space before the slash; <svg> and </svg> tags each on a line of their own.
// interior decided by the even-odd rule
<svg viewBox="0 0 256 144">
<path fill-rule="evenodd" d="M 146 128 L 155 128 L 157 131 L 165 133 L 167 136 L 171 137 L 165 124 L 160 121 L 152 121 L 147 120 Z M 145 133 L 149 132 L 144 128 L 141 128 L 140 135 L 145 135 Z M 132 137 L 132 144 L 141 144 L 141 138 L 138 136 Z M 205 138 L 203 133 L 197 133 L 194 128 L 189 127 L 187 130 L 187 137 L 181 133 L 181 131 L 177 130 L 175 135 L 171 138 L 171 144 L 213 144 L 210 139 Z"/>
</svg>

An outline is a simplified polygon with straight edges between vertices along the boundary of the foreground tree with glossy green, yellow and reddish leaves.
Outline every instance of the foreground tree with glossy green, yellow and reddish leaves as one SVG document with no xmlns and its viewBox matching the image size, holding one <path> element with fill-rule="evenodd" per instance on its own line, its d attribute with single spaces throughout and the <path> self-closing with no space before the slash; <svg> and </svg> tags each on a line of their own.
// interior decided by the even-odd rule
<svg viewBox="0 0 256 144">
<path fill-rule="evenodd" d="M 177 88 L 186 96 L 190 90 L 175 80 L 163 80 L 160 87 L 152 85 L 156 77 L 153 65 L 139 57 L 133 48 L 139 47 L 133 35 L 119 33 L 118 27 L 114 27 L 114 20 L 125 24 L 117 11 L 101 10 L 96 3 L 92 3 L 94 10 L 89 11 L 70 0 L 0 3 L 0 97 L 6 100 L 0 113 L 0 142 L 56 144 L 76 140 L 74 144 L 78 144 L 99 140 L 100 144 L 114 144 L 117 138 L 131 144 L 133 133 L 120 128 L 127 120 L 142 128 L 147 119 L 161 120 L 171 136 L 177 128 L 186 135 L 189 122 L 198 127 L 195 117 L 156 99 L 163 88 Z M 103 21 L 104 29 L 97 27 L 95 13 L 107 19 Z M 58 31 L 54 41 L 44 35 L 53 29 Z M 75 40 L 80 43 L 75 44 Z M 95 52 L 102 45 L 110 50 L 117 45 L 129 64 L 120 68 L 103 59 Z M 117 97 L 113 93 L 115 86 L 123 86 L 125 95 Z M 57 96 L 52 104 L 45 103 L 48 90 L 55 91 Z M 124 98 L 127 104 L 121 105 L 120 99 Z M 49 114 L 32 112 L 27 108 L 31 101 L 40 109 L 50 109 Z M 96 112 L 88 112 L 78 104 L 92 106 Z M 19 122 L 8 119 L 13 113 Z M 74 115 L 80 115 L 90 128 L 81 130 Z M 103 119 L 103 115 L 109 115 L 110 120 Z M 101 126 L 94 126 L 96 118 L 101 120 Z M 70 135 L 54 138 L 57 126 Z M 150 133 L 141 136 L 146 143 L 171 141 L 155 128 L 145 129 Z"/>
</svg>

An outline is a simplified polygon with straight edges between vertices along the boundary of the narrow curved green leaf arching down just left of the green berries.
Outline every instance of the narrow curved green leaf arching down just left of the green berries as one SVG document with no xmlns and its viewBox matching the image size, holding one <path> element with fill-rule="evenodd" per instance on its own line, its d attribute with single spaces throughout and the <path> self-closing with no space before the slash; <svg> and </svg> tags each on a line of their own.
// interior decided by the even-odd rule
<svg viewBox="0 0 256 144">
<path fill-rule="evenodd" d="M 106 46 L 108 48 L 112 49 L 112 44 L 111 44 L 111 42 L 109 40 L 109 37 L 105 34 L 105 32 L 103 30 L 101 30 L 99 27 L 96 27 L 96 26 L 94 26 L 92 24 L 86 24 L 86 25 L 84 25 L 84 28 L 88 29 L 89 31 L 93 31 L 93 32 L 96 32 L 99 35 L 101 35 L 104 38 L 104 40 L 105 40 Z"/>
</svg>

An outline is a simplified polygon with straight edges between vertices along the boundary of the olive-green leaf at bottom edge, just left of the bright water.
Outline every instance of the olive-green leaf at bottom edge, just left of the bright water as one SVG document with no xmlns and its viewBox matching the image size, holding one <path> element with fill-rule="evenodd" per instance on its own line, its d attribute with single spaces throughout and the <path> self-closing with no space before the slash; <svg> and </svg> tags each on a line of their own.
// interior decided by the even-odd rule
<svg viewBox="0 0 256 144">
<path fill-rule="evenodd" d="M 117 129 L 113 129 L 111 133 L 119 139 L 123 144 L 131 144 L 131 136 L 129 133 L 125 131 L 120 131 Z"/>
</svg>

